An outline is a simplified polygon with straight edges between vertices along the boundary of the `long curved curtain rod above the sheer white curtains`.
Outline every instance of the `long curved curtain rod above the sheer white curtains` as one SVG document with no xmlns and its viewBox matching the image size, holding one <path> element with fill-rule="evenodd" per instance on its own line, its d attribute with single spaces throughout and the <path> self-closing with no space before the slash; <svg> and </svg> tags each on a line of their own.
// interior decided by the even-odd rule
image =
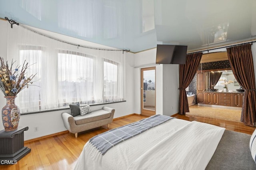
<svg viewBox="0 0 256 170">
<path fill-rule="evenodd" d="M 39 34 L 39 35 L 41 35 L 41 36 L 45 36 L 45 37 L 47 37 L 47 38 L 56 40 L 56 41 L 58 41 L 58 42 L 67 43 L 67 44 L 69 44 L 69 45 L 74 45 L 74 46 L 77 46 L 77 48 L 78 48 L 78 47 L 83 47 L 83 48 L 98 49 L 98 50 L 104 50 L 104 51 L 123 51 L 123 53 L 124 53 L 124 51 L 125 51 L 125 52 L 129 52 L 129 51 L 130 51 L 130 49 L 103 49 L 103 48 L 88 47 L 88 46 L 84 46 L 84 45 L 79 45 L 79 44 L 75 44 L 75 43 L 70 43 L 70 42 L 66 42 L 66 41 L 59 40 L 59 39 L 57 39 L 57 38 L 48 36 L 48 35 L 46 35 L 46 34 L 43 34 L 43 33 L 41 33 L 41 32 L 38 32 L 38 31 L 36 31 L 36 30 L 33 30 L 32 28 L 29 28 L 29 27 L 27 27 L 27 26 L 25 26 L 25 25 L 23 25 L 23 24 L 19 24 L 19 23 L 15 22 L 14 20 L 9 20 L 7 17 L 5 17 L 4 19 L 3 19 L 3 18 L 0 18 L 0 19 L 1 19 L 1 20 L 6 20 L 6 21 L 8 21 L 8 22 L 11 24 L 11 28 L 12 28 L 12 25 L 13 25 L 13 24 L 16 24 L 16 25 L 18 25 L 18 26 L 21 26 L 22 28 L 25 28 L 25 29 L 27 29 L 27 30 L 29 30 L 29 31 L 31 31 L 31 32 L 34 32 L 34 33 L 36 33 L 36 34 Z"/>
</svg>

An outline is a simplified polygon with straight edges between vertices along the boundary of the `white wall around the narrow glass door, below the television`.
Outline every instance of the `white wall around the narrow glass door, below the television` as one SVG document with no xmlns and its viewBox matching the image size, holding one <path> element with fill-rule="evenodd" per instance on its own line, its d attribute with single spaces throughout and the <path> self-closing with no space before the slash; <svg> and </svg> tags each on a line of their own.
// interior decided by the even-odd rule
<svg viewBox="0 0 256 170">
<path fill-rule="evenodd" d="M 134 55 L 134 109 L 140 113 L 140 69 L 156 63 L 156 48 L 135 53 Z M 156 114 L 174 115 L 178 113 L 179 72 L 178 65 L 166 64 L 156 66 Z M 166 90 L 165 90 L 166 87 Z M 175 89 L 175 90 L 173 90 Z"/>
</svg>

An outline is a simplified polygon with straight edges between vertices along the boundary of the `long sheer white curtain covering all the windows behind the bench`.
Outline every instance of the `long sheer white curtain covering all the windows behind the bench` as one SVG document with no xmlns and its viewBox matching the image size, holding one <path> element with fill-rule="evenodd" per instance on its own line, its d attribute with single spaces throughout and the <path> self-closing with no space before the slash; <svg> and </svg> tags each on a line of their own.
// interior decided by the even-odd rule
<svg viewBox="0 0 256 170">
<path fill-rule="evenodd" d="M 5 29 L 8 61 L 14 59 L 21 65 L 26 60 L 31 65 L 28 75 L 37 73 L 33 79 L 35 86 L 24 89 L 16 98 L 22 113 L 58 109 L 75 102 L 124 100 L 122 51 L 78 48 L 22 26 L 11 29 L 8 25 Z"/>
</svg>

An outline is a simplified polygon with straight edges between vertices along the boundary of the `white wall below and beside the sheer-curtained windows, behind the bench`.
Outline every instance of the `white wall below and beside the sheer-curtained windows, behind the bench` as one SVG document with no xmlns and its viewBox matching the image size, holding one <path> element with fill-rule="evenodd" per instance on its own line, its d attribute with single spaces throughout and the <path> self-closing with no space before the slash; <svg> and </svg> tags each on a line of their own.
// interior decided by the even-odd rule
<svg viewBox="0 0 256 170">
<path fill-rule="evenodd" d="M 6 61 L 8 55 L 7 47 L 7 26 L 10 26 L 8 22 L 0 22 L 0 56 Z M 85 42 L 86 43 L 86 42 Z M 134 54 L 126 53 L 126 65 L 125 65 L 125 84 L 126 84 L 126 102 L 112 103 L 106 105 L 92 106 L 92 110 L 101 109 L 103 106 L 108 106 L 116 109 L 114 118 L 122 117 L 136 113 L 134 110 Z M 0 108 L 6 105 L 6 99 L 4 95 L 0 94 Z M 66 130 L 64 127 L 61 113 L 70 112 L 69 109 L 62 111 L 51 111 L 36 113 L 30 115 L 21 115 L 19 127 L 29 127 L 28 131 L 24 132 L 24 140 L 45 136 L 57 132 Z M 38 127 L 38 131 L 34 132 L 34 127 Z M 0 130 L 4 129 L 2 120 L 0 122 Z"/>
</svg>

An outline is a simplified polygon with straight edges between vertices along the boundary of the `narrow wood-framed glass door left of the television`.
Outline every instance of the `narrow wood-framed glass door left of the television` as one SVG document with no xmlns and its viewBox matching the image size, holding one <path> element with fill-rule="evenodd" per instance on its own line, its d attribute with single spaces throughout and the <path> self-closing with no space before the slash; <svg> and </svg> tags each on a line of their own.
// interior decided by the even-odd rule
<svg viewBox="0 0 256 170">
<path fill-rule="evenodd" d="M 156 67 L 142 68 L 140 71 L 141 115 L 156 115 Z"/>
</svg>

